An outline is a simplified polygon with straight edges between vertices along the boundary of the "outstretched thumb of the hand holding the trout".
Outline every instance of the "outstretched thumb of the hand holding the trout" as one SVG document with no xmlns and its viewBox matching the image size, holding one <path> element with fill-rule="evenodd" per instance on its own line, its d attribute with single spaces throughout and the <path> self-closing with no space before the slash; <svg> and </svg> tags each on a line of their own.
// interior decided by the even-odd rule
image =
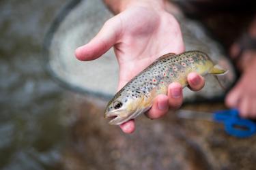
<svg viewBox="0 0 256 170">
<path fill-rule="evenodd" d="M 81 61 L 94 60 L 108 51 L 116 42 L 121 27 L 115 17 L 106 21 L 100 32 L 88 44 L 76 48 L 75 55 Z"/>
</svg>

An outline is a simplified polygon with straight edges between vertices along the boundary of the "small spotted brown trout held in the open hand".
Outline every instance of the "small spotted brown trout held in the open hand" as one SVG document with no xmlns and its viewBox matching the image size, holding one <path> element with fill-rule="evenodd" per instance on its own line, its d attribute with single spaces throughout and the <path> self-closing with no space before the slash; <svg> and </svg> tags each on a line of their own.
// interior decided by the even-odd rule
<svg viewBox="0 0 256 170">
<path fill-rule="evenodd" d="M 187 86 L 188 73 L 217 75 L 225 71 L 214 65 L 209 56 L 200 51 L 165 54 L 117 92 L 106 106 L 104 118 L 111 119 L 109 124 L 122 124 L 147 112 L 157 95 L 167 94 L 167 88 L 172 82 Z"/>
</svg>

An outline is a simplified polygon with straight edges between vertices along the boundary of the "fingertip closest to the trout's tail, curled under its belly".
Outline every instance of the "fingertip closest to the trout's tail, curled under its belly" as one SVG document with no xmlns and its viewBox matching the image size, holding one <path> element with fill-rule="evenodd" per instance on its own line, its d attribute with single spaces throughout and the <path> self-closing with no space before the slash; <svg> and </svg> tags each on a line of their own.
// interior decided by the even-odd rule
<svg viewBox="0 0 256 170">
<path fill-rule="evenodd" d="M 189 73 L 188 74 L 188 88 L 193 91 L 198 91 L 203 88 L 205 80 L 204 78 L 197 73 Z"/>
</svg>

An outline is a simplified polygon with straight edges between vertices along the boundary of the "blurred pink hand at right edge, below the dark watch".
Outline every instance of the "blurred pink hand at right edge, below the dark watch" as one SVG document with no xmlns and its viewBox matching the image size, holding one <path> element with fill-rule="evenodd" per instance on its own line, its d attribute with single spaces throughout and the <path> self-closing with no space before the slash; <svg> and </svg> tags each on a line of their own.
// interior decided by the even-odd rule
<svg viewBox="0 0 256 170">
<path fill-rule="evenodd" d="M 231 48 L 231 54 L 238 52 L 237 45 Z M 225 103 L 237 108 L 243 118 L 256 118 L 256 50 L 246 50 L 240 57 L 238 67 L 242 70 L 240 80 L 228 93 Z"/>
</svg>

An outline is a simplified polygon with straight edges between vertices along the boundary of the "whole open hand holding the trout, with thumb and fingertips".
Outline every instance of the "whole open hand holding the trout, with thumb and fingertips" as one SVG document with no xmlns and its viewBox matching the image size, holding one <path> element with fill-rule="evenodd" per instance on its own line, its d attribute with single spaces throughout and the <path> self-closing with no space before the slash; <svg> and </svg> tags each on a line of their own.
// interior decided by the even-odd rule
<svg viewBox="0 0 256 170">
<path fill-rule="evenodd" d="M 159 56 L 169 52 L 184 52 L 177 20 L 163 10 L 161 1 L 152 2 L 131 1 L 123 6 L 124 11 L 107 20 L 94 39 L 76 49 L 76 57 L 81 61 L 91 61 L 113 46 L 119 63 L 120 89 Z M 200 75 L 190 73 L 188 84 L 191 89 L 199 90 L 203 87 L 204 80 Z M 180 105 L 182 86 L 173 83 L 169 85 L 168 96 L 156 97 L 146 115 L 152 119 L 159 118 L 168 112 L 169 107 L 177 109 Z M 125 133 L 132 133 L 135 128 L 134 120 L 129 120 L 120 127 Z"/>
</svg>

